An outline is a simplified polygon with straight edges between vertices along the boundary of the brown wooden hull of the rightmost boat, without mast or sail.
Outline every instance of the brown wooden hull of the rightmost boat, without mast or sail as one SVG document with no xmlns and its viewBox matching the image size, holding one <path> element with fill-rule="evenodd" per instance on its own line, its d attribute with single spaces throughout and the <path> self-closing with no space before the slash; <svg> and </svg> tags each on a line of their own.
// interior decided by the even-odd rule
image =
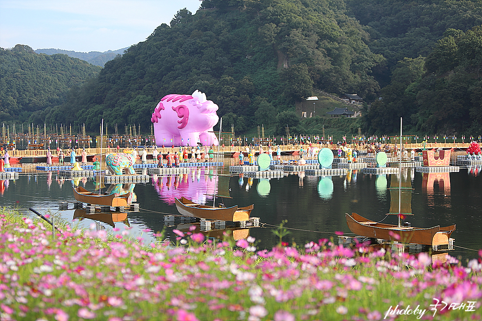
<svg viewBox="0 0 482 321">
<path fill-rule="evenodd" d="M 448 244 L 450 235 L 455 230 L 455 225 L 431 228 L 398 227 L 373 222 L 356 213 L 345 214 L 345 218 L 348 228 L 356 235 L 402 243 L 444 245 Z"/>
</svg>

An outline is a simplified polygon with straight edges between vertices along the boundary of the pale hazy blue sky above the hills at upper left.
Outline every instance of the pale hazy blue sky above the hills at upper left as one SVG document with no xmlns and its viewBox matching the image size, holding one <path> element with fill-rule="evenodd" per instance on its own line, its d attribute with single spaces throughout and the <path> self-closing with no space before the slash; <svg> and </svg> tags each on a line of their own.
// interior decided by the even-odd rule
<svg viewBox="0 0 482 321">
<path fill-rule="evenodd" d="M 145 41 L 199 0 L 0 0 L 0 47 L 78 52 L 117 50 Z"/>
</svg>

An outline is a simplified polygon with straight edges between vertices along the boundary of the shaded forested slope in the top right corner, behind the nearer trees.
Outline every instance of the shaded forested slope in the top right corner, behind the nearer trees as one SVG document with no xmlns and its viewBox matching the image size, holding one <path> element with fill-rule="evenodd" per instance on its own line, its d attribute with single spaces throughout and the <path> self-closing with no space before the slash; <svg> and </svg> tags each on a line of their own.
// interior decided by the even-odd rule
<svg viewBox="0 0 482 321">
<path fill-rule="evenodd" d="M 471 0 L 346 0 L 356 20 L 370 34 L 370 49 L 386 65 L 375 70 L 382 87 L 404 58 L 427 57 L 448 29 L 467 31 L 482 25 L 482 2 Z"/>
</svg>

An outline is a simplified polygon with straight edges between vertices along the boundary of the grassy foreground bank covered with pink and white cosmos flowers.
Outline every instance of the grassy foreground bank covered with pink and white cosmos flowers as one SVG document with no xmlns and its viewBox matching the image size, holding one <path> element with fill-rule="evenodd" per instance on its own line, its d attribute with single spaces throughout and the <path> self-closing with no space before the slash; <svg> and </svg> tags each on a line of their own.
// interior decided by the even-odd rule
<svg viewBox="0 0 482 321">
<path fill-rule="evenodd" d="M 0 319 L 413 320 L 423 314 L 418 319 L 477 320 L 482 314 L 480 257 L 467 266 L 455 258 L 432 264 L 426 253 L 351 250 L 330 240 L 258 251 L 251 237 L 231 244 L 180 231 L 177 244 L 144 245 L 128 231 L 112 237 L 58 228 L 52 235 L 45 221 L 0 211 Z M 448 305 L 432 310 L 437 300 Z"/>
</svg>

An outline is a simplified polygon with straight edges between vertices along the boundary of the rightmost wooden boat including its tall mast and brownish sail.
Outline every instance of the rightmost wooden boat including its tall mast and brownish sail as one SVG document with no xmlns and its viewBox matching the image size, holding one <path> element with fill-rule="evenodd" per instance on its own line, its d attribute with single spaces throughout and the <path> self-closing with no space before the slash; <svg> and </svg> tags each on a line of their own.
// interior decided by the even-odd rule
<svg viewBox="0 0 482 321">
<path fill-rule="evenodd" d="M 402 118 L 400 118 L 400 142 L 402 142 Z M 402 148 L 400 148 L 400 151 L 402 151 Z M 401 156 L 402 152 L 400 152 L 398 174 L 400 180 L 397 179 L 396 175 L 393 175 L 389 188 L 391 207 L 390 212 L 387 214 L 387 216 L 397 215 L 398 225 L 382 223 L 383 219 L 379 222 L 375 222 L 356 213 L 351 213 L 351 215 L 348 213 L 345 214 L 346 224 L 350 231 L 355 235 L 364 237 L 430 246 L 448 245 L 450 235 L 455 230 L 455 225 L 446 227 L 440 227 L 440 225 L 437 225 L 430 228 L 412 227 L 408 222 L 405 222 L 404 225 L 402 225 L 402 218 L 406 215 L 413 214 L 411 210 L 412 186 L 410 181 L 405 184 L 402 182 Z"/>
</svg>

